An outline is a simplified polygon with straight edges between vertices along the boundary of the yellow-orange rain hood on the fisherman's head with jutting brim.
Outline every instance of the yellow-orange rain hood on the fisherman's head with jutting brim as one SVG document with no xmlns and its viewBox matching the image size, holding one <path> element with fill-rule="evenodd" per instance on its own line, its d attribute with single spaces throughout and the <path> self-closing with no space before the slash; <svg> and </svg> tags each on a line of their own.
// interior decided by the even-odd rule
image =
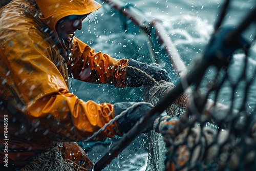
<svg viewBox="0 0 256 171">
<path fill-rule="evenodd" d="M 40 19 L 55 30 L 59 19 L 69 15 L 85 15 L 96 11 L 101 5 L 94 0 L 36 0 L 41 10 Z"/>
</svg>

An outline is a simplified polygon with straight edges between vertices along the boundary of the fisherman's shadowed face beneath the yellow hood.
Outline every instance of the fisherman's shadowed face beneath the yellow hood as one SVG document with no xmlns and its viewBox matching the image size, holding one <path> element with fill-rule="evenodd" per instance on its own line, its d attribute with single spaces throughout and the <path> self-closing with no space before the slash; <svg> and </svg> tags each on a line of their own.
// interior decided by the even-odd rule
<svg viewBox="0 0 256 171">
<path fill-rule="evenodd" d="M 59 38 L 67 38 L 70 34 L 74 34 L 76 30 L 81 30 L 83 18 L 79 18 L 79 19 L 72 19 L 72 17 L 62 18 L 56 28 Z"/>
</svg>

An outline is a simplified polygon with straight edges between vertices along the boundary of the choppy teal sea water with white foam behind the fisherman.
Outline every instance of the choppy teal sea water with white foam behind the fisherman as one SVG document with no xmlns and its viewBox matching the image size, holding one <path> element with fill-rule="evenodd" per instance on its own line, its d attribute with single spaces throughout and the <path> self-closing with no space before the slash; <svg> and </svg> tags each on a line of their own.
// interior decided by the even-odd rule
<svg viewBox="0 0 256 171">
<path fill-rule="evenodd" d="M 125 30 L 120 14 L 108 4 L 101 1 L 98 2 L 102 4 L 102 8 L 96 13 L 90 14 L 89 20 L 83 21 L 83 28 L 76 33 L 76 36 L 94 48 L 95 51 L 102 51 L 115 58 L 133 58 L 141 61 L 150 58 L 148 39 L 145 34 Z M 207 46 L 224 3 L 224 1 L 220 0 L 131 0 L 125 2 L 140 9 L 143 15 L 145 14 L 152 19 L 161 21 L 164 30 L 173 40 L 177 53 L 180 54 L 188 68 L 194 59 L 202 55 Z M 231 1 L 223 26 L 232 25 L 236 27 L 252 8 L 255 8 L 255 1 Z M 250 40 L 254 38 L 255 26 L 254 29 L 250 27 L 243 35 Z M 254 54 L 256 52 L 255 49 L 254 46 Z M 242 59 L 243 55 L 234 57 L 235 61 Z M 250 66 L 255 66 L 255 64 L 255 57 L 251 57 Z M 234 62 L 234 72 L 236 72 L 237 65 L 239 64 Z M 172 76 L 173 80 L 177 79 L 177 74 L 169 73 L 169 75 Z M 112 85 L 81 83 L 73 79 L 70 79 L 70 83 L 72 85 L 70 90 L 84 101 L 94 100 L 97 103 L 115 103 L 122 101 L 139 102 L 142 100 L 141 88 L 117 89 Z M 251 97 L 252 102 L 249 105 L 254 105 L 254 97 Z M 89 158 L 95 163 L 120 138 L 106 138 L 101 142 L 83 142 L 81 144 L 87 149 Z M 148 159 L 147 144 L 146 135 L 138 136 L 104 170 L 145 170 Z M 160 156 L 164 156 L 164 149 Z M 161 164 L 163 164 L 164 158 L 161 160 Z"/>
</svg>

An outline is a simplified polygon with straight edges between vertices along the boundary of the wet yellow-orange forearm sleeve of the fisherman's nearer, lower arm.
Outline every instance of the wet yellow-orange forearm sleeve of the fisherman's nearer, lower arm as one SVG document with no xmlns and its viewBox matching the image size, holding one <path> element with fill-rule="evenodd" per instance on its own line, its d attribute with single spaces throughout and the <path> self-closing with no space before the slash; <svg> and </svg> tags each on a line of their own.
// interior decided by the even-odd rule
<svg viewBox="0 0 256 171">
<path fill-rule="evenodd" d="M 48 130 L 48 137 L 73 141 L 87 139 L 114 118 L 112 104 L 84 102 L 66 90 L 37 100 L 27 112 L 31 120 L 40 121 L 40 125 Z M 114 122 L 93 140 L 114 137 L 117 133 Z"/>
</svg>

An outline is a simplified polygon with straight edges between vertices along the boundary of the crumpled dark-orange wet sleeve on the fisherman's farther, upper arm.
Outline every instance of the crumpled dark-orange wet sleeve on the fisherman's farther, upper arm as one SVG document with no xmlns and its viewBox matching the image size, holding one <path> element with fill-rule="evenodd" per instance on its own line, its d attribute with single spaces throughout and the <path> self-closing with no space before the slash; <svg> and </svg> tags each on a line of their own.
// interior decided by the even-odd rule
<svg viewBox="0 0 256 171">
<path fill-rule="evenodd" d="M 114 84 L 125 87 L 127 59 L 115 59 L 94 49 L 74 37 L 73 58 L 68 62 L 69 73 L 73 78 L 92 82 Z"/>
</svg>

